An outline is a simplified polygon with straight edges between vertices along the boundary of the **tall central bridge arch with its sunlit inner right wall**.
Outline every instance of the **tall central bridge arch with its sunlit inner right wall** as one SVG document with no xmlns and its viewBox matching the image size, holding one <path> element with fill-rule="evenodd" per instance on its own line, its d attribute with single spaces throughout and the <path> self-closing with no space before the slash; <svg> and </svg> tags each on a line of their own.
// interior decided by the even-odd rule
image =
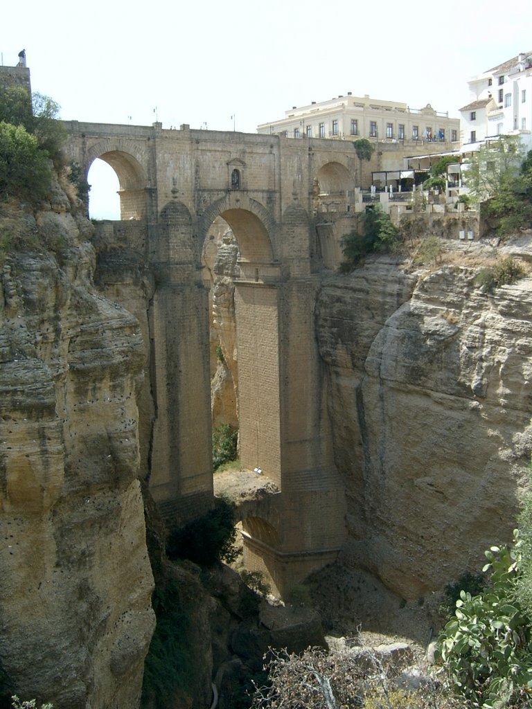
<svg viewBox="0 0 532 709">
<path fill-rule="evenodd" d="M 276 225 L 257 201 L 238 190 L 206 209 L 199 223 L 199 240 L 221 217 L 238 243 L 235 283 L 235 323 L 238 342 L 238 418 L 240 462 L 260 467 L 281 486 L 279 390 L 280 268 L 275 252 Z"/>
</svg>

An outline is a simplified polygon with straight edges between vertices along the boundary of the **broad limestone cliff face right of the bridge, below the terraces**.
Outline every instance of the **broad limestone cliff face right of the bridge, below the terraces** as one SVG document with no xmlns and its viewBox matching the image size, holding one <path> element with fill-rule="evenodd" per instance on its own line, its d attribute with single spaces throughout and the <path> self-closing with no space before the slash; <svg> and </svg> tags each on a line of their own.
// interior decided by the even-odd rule
<svg viewBox="0 0 532 709">
<path fill-rule="evenodd" d="M 385 259 L 321 291 L 350 564 L 409 600 L 509 540 L 532 447 L 532 279 L 494 294 L 475 270 Z"/>
</svg>

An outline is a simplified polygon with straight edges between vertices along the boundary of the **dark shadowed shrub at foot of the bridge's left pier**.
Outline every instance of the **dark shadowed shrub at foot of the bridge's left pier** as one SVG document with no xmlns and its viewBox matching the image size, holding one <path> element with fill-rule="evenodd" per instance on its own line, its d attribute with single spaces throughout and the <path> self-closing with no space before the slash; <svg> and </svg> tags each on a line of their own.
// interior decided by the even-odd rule
<svg viewBox="0 0 532 709">
<path fill-rule="evenodd" d="M 217 561 L 231 564 L 238 556 L 235 539 L 235 506 L 217 499 L 216 506 L 206 515 L 169 535 L 166 552 L 169 559 L 190 559 L 200 566 Z"/>
</svg>

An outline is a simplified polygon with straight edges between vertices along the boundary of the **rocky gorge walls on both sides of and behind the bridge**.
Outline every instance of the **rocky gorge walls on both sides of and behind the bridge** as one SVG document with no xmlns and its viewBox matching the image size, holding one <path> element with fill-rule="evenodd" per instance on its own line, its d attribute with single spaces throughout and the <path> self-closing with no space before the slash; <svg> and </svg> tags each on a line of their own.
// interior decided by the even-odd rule
<svg viewBox="0 0 532 709">
<path fill-rule="evenodd" d="M 144 323 L 94 285 L 94 229 L 66 182 L 38 211 L 2 203 L 0 234 L 1 669 L 57 709 L 133 708 L 161 575 L 139 445 Z M 223 230 L 218 243 L 206 255 L 224 355 L 213 409 L 235 423 L 236 247 Z M 532 238 L 445 248 L 436 264 L 375 257 L 323 271 L 316 386 L 348 509 L 338 562 L 315 578 L 329 625 L 401 630 L 412 609 L 429 625 L 431 598 L 511 537 L 532 452 L 532 279 L 488 293 L 475 277 L 501 255 L 526 268 Z M 232 588 L 216 600 L 194 569 L 176 578 L 201 691 L 175 705 L 199 708 L 249 635 L 224 600 L 238 596 L 234 579 L 212 582 Z"/>
</svg>

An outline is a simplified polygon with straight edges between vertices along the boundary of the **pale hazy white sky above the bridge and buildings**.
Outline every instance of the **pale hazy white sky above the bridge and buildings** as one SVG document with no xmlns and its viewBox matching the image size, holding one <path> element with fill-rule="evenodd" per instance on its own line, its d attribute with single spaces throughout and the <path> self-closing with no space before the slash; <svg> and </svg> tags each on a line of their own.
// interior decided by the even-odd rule
<svg viewBox="0 0 532 709">
<path fill-rule="evenodd" d="M 26 50 L 61 118 L 255 133 L 338 94 L 458 116 L 467 79 L 532 50 L 532 6 L 447 0 L 6 2 L 0 51 Z M 154 109 L 157 109 L 154 113 Z"/>
</svg>

